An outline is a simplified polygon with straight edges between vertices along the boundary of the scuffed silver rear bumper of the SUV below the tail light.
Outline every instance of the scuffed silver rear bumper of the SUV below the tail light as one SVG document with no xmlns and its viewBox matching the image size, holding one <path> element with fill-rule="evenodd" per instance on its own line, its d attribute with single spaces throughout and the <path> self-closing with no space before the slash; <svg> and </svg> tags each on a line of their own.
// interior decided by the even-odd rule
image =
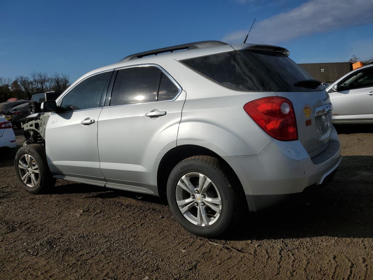
<svg viewBox="0 0 373 280">
<path fill-rule="evenodd" d="M 329 146 L 312 159 L 300 141 L 278 140 L 259 155 L 223 158 L 241 181 L 250 210 L 257 211 L 323 186 L 341 162 L 341 146 L 332 128 Z"/>
</svg>

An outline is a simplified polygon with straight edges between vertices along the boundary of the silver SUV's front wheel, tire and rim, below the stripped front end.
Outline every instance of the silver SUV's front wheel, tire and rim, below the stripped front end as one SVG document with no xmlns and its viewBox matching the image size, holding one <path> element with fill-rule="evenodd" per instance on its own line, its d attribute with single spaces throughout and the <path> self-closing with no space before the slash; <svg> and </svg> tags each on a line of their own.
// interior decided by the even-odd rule
<svg viewBox="0 0 373 280">
<path fill-rule="evenodd" d="M 29 193 L 45 192 L 56 183 L 47 164 L 45 147 L 41 144 L 22 146 L 14 165 L 19 183 Z"/>
</svg>

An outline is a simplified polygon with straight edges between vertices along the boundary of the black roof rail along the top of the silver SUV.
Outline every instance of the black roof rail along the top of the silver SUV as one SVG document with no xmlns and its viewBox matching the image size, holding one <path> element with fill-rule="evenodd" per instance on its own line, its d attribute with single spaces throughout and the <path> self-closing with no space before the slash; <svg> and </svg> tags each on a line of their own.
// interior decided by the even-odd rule
<svg viewBox="0 0 373 280">
<path fill-rule="evenodd" d="M 222 46 L 222 45 L 228 45 L 228 44 L 221 42 L 221 41 L 199 41 L 199 42 L 194 42 L 194 43 L 187 43 L 187 44 L 181 44 L 177 46 L 160 48 L 156 50 L 148 50 L 142 53 L 134 53 L 133 55 L 126 56 L 125 58 L 120 60 L 120 62 L 130 60 L 130 59 L 141 58 L 141 57 L 148 56 L 148 55 L 158 55 L 160 53 L 167 53 L 167 52 L 172 53 L 176 50 L 191 50 L 191 49 L 200 49 L 200 48 Z"/>
</svg>

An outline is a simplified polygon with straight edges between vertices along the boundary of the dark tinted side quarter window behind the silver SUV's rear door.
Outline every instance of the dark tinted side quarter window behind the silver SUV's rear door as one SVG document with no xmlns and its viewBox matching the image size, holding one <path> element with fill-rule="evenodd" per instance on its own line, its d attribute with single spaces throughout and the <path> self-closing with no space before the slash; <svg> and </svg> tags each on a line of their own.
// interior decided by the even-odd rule
<svg viewBox="0 0 373 280">
<path fill-rule="evenodd" d="M 185 59 L 182 62 L 216 83 L 234 90 L 272 91 L 236 51 Z"/>
</svg>

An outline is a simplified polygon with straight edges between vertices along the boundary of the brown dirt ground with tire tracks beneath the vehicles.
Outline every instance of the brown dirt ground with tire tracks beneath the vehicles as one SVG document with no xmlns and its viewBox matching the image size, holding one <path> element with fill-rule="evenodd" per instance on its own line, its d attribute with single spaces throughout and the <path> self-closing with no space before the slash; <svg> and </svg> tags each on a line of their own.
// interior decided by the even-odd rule
<svg viewBox="0 0 373 280">
<path fill-rule="evenodd" d="M 189 234 L 157 197 L 66 181 L 26 193 L 17 149 L 1 150 L 0 279 L 373 279 L 373 127 L 337 130 L 342 163 L 316 199 L 251 213 L 225 240 Z"/>
</svg>

